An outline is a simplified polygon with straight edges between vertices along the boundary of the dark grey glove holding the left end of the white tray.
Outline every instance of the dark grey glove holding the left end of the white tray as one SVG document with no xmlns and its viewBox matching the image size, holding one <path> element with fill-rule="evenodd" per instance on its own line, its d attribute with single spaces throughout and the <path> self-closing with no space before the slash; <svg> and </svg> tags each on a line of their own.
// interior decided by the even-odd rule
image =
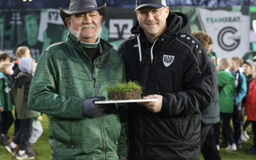
<svg viewBox="0 0 256 160">
<path fill-rule="evenodd" d="M 106 104 L 95 104 L 94 101 L 105 100 L 105 97 L 92 97 L 84 100 L 82 115 L 94 118 L 108 108 Z"/>
</svg>

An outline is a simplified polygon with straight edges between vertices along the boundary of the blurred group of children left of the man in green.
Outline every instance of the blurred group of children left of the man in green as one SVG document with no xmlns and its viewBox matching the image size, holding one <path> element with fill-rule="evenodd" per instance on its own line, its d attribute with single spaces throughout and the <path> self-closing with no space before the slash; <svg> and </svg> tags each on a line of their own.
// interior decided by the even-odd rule
<svg viewBox="0 0 256 160">
<path fill-rule="evenodd" d="M 42 114 L 31 111 L 27 104 L 36 61 L 26 46 L 18 47 L 13 62 L 10 60 L 7 53 L 0 54 L 0 142 L 6 150 L 33 158 L 38 154 L 33 144 L 43 132 Z M 14 133 L 8 137 L 13 123 Z"/>
</svg>

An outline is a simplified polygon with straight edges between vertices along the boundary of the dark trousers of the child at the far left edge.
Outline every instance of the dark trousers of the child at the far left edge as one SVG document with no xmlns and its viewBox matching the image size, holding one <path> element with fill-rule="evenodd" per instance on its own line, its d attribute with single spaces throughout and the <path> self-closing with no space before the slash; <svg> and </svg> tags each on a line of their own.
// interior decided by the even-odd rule
<svg viewBox="0 0 256 160">
<path fill-rule="evenodd" d="M 12 111 L 3 111 L 1 119 L 2 133 L 6 135 L 14 121 Z"/>
</svg>

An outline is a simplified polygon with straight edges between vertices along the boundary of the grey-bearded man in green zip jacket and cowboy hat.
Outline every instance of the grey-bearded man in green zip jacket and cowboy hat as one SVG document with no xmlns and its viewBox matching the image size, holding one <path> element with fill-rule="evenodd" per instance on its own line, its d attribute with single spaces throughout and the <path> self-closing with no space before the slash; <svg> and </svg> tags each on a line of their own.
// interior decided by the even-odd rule
<svg viewBox="0 0 256 160">
<path fill-rule="evenodd" d="M 125 80 L 122 57 L 99 37 L 105 10 L 95 0 L 60 8 L 67 39 L 49 46 L 36 67 L 28 106 L 49 116 L 52 159 L 127 157 L 124 106 L 95 104 Z"/>
</svg>

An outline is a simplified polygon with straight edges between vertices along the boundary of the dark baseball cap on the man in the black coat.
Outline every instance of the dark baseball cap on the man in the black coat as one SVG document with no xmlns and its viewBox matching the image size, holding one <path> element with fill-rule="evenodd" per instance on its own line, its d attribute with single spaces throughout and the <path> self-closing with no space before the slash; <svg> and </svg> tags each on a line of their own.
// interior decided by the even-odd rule
<svg viewBox="0 0 256 160">
<path fill-rule="evenodd" d="M 162 8 L 166 6 L 165 0 L 136 0 L 136 8 L 134 12 L 143 6 L 152 6 L 154 8 Z"/>
</svg>

